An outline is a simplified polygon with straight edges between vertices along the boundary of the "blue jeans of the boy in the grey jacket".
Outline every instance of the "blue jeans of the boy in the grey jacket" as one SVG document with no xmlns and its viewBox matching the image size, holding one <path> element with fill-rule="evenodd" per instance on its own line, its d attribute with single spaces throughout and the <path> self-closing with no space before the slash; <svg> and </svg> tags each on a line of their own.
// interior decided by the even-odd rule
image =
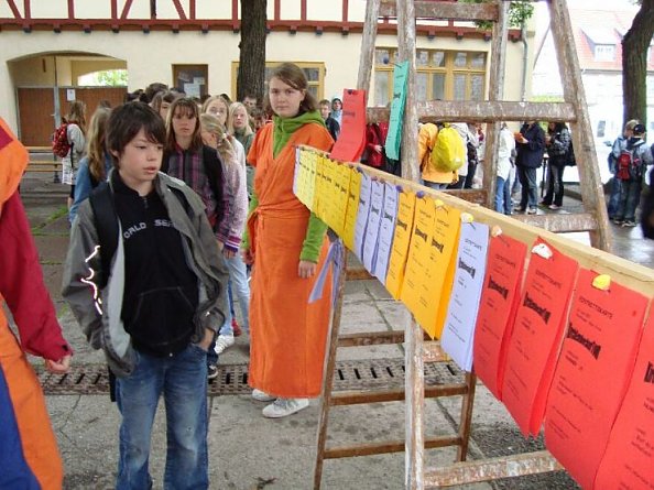
<svg viewBox="0 0 654 490">
<path fill-rule="evenodd" d="M 152 487 L 148 468 L 159 399 L 166 407 L 164 489 L 207 489 L 207 352 L 189 345 L 173 357 L 138 352 L 134 372 L 116 381 L 120 424 L 117 490 Z"/>
</svg>

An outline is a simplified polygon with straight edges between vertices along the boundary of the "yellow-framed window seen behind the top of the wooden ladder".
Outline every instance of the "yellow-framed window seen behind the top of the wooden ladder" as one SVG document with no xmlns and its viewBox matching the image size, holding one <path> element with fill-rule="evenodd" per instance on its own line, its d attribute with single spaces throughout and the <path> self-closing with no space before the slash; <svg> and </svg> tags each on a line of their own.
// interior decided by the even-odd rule
<svg viewBox="0 0 654 490">
<path fill-rule="evenodd" d="M 393 63 L 397 50 L 378 47 L 374 53 L 374 104 L 385 106 L 392 97 Z M 483 100 L 484 52 L 417 50 L 417 100 Z"/>
</svg>

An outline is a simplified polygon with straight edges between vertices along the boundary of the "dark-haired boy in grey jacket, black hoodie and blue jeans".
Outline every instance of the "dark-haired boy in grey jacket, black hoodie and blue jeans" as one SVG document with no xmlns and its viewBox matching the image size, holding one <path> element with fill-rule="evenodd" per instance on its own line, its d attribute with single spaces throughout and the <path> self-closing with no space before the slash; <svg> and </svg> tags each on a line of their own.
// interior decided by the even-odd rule
<svg viewBox="0 0 654 490">
<path fill-rule="evenodd" d="M 64 270 L 64 298 L 117 375 L 121 490 L 152 488 L 150 442 L 162 395 L 163 487 L 209 487 L 207 349 L 225 320 L 227 272 L 204 202 L 160 172 L 165 142 L 163 121 L 148 105 L 130 102 L 111 113 L 107 146 L 115 170 L 79 207 Z M 100 193 L 116 224 L 98 225 L 91 199 Z M 111 232 L 109 226 L 117 246 L 107 261 L 107 243 L 97 237 Z"/>
</svg>

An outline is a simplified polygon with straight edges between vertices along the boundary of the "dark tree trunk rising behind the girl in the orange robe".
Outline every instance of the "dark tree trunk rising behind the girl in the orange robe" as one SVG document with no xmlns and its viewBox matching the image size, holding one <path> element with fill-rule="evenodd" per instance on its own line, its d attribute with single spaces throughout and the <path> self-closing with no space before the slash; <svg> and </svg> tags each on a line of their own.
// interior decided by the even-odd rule
<svg viewBox="0 0 654 490">
<path fill-rule="evenodd" d="M 239 44 L 239 73 L 237 98 L 255 96 L 263 101 L 265 80 L 265 21 L 266 0 L 241 0 L 241 42 Z"/>
</svg>

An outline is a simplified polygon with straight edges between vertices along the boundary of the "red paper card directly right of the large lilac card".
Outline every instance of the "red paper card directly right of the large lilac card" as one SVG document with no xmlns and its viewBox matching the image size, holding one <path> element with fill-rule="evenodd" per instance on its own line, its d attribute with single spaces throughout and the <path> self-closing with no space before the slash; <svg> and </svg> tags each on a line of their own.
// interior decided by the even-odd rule
<svg viewBox="0 0 654 490">
<path fill-rule="evenodd" d="M 503 368 L 521 298 L 525 257 L 522 241 L 504 235 L 491 238 L 472 357 L 475 373 L 498 400 L 502 400 Z"/>
</svg>

